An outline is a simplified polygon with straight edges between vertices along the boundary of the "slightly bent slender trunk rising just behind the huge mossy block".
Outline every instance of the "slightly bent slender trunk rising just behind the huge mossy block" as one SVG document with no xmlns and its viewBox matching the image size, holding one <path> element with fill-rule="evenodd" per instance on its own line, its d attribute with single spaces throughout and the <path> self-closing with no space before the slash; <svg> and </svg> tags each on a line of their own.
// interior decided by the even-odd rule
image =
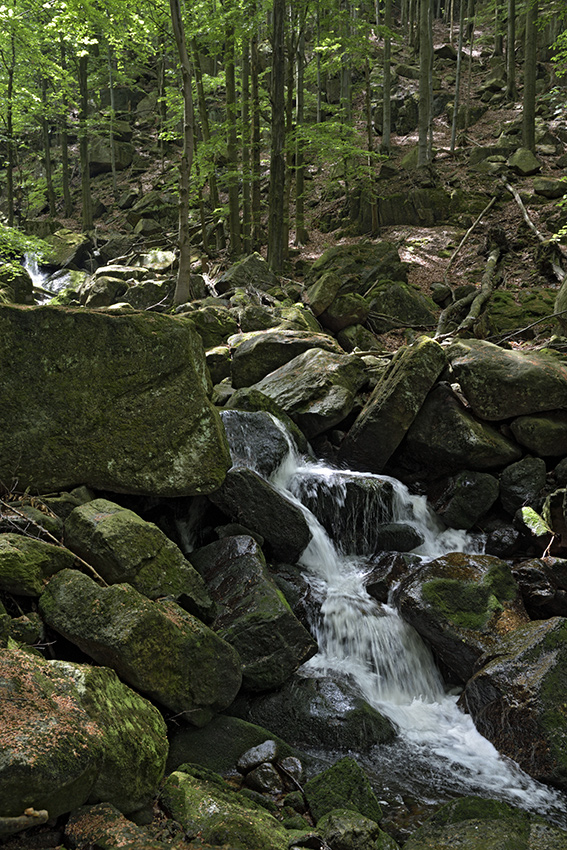
<svg viewBox="0 0 567 850">
<path fill-rule="evenodd" d="M 179 165 L 179 270 L 173 296 L 174 304 L 179 305 L 189 301 L 192 297 L 189 187 L 194 151 L 193 91 L 191 87 L 191 64 L 187 53 L 185 28 L 179 0 L 169 0 L 169 8 L 183 81 L 183 153 Z"/>
</svg>

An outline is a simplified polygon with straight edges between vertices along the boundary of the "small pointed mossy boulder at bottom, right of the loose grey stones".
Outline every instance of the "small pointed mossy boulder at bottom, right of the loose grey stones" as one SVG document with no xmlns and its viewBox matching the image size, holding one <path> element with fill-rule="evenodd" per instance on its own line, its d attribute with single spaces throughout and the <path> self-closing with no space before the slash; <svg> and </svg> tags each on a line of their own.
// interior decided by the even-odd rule
<svg viewBox="0 0 567 850">
<path fill-rule="evenodd" d="M 304 791 L 316 821 L 333 809 L 353 809 L 375 823 L 382 819 L 382 809 L 368 777 L 350 756 L 306 782 Z"/>
</svg>

